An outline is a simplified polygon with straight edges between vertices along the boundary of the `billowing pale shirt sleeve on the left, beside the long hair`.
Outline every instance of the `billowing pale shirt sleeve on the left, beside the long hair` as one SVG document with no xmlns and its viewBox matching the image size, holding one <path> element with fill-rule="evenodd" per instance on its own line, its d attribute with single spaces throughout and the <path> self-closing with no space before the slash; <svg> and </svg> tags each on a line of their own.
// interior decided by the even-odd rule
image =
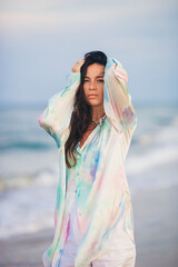
<svg viewBox="0 0 178 267">
<path fill-rule="evenodd" d="M 71 72 L 67 87 L 48 100 L 48 106 L 39 116 L 38 122 L 53 139 L 58 147 L 61 135 L 69 127 L 73 101 L 80 85 L 81 73 Z"/>
</svg>

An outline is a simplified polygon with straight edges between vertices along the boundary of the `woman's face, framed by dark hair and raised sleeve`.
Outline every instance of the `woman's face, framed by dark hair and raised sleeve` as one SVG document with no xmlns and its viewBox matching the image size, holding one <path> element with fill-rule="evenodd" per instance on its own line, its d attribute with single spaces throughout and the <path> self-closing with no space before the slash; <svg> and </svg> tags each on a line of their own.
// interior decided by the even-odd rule
<svg viewBox="0 0 178 267">
<path fill-rule="evenodd" d="M 105 66 L 93 63 L 88 66 L 83 81 L 86 99 L 91 106 L 103 106 Z"/>
</svg>

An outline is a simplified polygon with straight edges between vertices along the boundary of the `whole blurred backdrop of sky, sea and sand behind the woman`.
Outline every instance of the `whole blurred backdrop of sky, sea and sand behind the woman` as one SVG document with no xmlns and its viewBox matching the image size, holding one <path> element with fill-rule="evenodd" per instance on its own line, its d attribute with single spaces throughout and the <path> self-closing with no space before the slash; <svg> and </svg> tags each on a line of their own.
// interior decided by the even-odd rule
<svg viewBox="0 0 178 267">
<path fill-rule="evenodd" d="M 0 266 L 42 266 L 58 150 L 38 125 L 86 52 L 118 59 L 138 117 L 126 172 L 136 267 L 178 263 L 178 1 L 0 0 Z"/>
</svg>

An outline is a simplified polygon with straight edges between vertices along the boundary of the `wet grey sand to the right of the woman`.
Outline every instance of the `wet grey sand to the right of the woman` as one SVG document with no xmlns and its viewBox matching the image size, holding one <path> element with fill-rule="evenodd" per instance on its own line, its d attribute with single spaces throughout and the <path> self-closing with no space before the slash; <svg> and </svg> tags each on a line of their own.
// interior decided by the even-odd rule
<svg viewBox="0 0 178 267">
<path fill-rule="evenodd" d="M 177 267 L 178 187 L 142 191 L 132 206 L 136 267 Z"/>
</svg>

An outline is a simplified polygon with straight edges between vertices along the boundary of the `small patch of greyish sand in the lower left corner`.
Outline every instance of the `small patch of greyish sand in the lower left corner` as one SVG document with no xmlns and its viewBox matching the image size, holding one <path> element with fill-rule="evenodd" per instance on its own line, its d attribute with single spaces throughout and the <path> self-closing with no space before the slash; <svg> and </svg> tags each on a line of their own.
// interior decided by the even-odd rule
<svg viewBox="0 0 178 267">
<path fill-rule="evenodd" d="M 42 251 L 50 245 L 53 229 L 0 240 L 0 267 L 42 267 Z"/>
</svg>

